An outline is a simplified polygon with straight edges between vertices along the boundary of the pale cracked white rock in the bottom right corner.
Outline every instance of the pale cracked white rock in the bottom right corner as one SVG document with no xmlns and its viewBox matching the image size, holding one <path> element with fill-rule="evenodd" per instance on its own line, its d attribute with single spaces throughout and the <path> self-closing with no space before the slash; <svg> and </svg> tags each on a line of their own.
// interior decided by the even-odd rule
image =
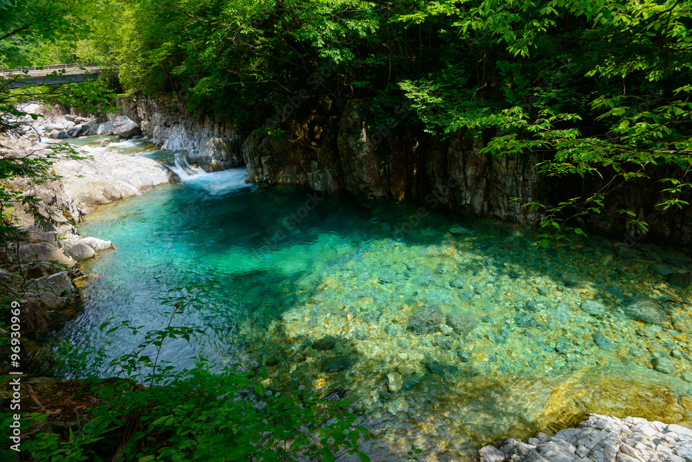
<svg viewBox="0 0 692 462">
<path fill-rule="evenodd" d="M 589 414 L 579 428 L 482 447 L 480 462 L 692 461 L 692 430 L 643 418 Z"/>
</svg>

